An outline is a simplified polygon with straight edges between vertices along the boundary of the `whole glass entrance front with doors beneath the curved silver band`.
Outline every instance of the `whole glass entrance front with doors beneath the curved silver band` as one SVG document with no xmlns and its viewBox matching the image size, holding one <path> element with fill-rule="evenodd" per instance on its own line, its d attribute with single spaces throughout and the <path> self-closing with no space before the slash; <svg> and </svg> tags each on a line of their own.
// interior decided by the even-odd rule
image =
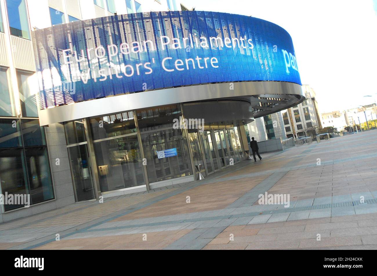
<svg viewBox="0 0 377 276">
<path fill-rule="evenodd" d="M 176 124 L 182 117 L 172 104 L 65 122 L 76 200 L 95 199 L 93 179 L 106 193 L 194 176 L 199 164 L 210 175 L 242 160 L 236 127 L 184 129 Z"/>
</svg>

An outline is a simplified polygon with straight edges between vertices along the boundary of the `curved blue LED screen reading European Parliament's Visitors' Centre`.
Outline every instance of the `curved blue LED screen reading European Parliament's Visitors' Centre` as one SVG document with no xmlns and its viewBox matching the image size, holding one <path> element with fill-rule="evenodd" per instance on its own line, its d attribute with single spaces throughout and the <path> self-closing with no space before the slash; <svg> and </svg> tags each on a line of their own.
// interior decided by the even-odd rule
<svg viewBox="0 0 377 276">
<path fill-rule="evenodd" d="M 41 109 L 193 84 L 301 84 L 287 31 L 244 15 L 114 15 L 40 29 L 33 38 Z"/>
</svg>

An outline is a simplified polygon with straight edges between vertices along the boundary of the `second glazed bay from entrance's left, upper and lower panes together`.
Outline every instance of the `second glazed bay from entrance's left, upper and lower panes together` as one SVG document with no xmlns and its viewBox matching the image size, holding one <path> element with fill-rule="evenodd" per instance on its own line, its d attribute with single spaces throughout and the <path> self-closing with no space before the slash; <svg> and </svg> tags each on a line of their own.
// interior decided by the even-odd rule
<svg viewBox="0 0 377 276">
<path fill-rule="evenodd" d="M 90 119 L 102 192 L 145 184 L 133 112 Z"/>
</svg>

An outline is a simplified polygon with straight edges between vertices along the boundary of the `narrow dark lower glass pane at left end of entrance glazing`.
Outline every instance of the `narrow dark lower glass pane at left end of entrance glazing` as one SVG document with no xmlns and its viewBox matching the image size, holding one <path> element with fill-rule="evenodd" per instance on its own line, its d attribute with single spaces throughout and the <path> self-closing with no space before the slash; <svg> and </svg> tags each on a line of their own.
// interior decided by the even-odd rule
<svg viewBox="0 0 377 276">
<path fill-rule="evenodd" d="M 76 201 L 95 198 L 87 145 L 68 148 L 70 167 L 75 183 Z"/>
</svg>

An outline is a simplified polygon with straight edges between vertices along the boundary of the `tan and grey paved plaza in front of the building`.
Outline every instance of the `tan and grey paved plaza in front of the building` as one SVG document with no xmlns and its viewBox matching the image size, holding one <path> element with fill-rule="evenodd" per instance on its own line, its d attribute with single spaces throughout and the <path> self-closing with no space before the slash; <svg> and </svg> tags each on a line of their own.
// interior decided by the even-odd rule
<svg viewBox="0 0 377 276">
<path fill-rule="evenodd" d="M 377 249 L 377 130 L 0 224 L 0 249 Z M 290 206 L 258 203 L 289 194 Z M 60 241 L 55 238 L 59 234 Z"/>
</svg>

